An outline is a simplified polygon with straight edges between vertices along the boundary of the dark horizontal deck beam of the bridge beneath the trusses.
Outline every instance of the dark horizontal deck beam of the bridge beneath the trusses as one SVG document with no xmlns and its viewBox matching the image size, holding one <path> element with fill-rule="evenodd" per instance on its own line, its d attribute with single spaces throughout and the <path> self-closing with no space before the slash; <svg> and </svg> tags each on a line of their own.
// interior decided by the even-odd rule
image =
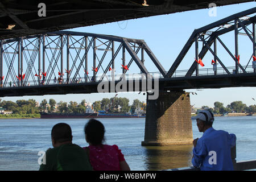
<svg viewBox="0 0 256 182">
<path fill-rule="evenodd" d="M 152 78 L 154 83 L 156 79 L 159 81 L 159 89 L 161 90 L 182 90 L 182 89 L 201 89 L 201 88 L 228 88 L 239 86 L 256 86 L 256 73 L 242 73 L 233 75 L 212 75 L 212 76 L 192 76 L 192 77 L 172 77 L 172 78 Z M 143 87 L 142 79 L 132 79 L 133 90 L 135 90 L 135 81 L 139 82 L 139 88 L 136 91 L 150 91 Z M 150 80 L 148 80 L 150 81 Z M 109 93 L 113 92 L 111 81 L 105 81 L 109 85 Z M 116 86 L 119 81 L 115 80 Z M 127 84 L 127 89 L 122 92 L 129 92 L 130 80 L 122 81 Z M 75 94 L 75 93 L 98 93 L 98 84 L 100 82 L 80 82 L 69 84 L 57 84 L 52 82 L 49 85 L 32 85 L 32 86 L 15 86 L 0 88 L 0 97 L 7 96 L 36 96 L 47 94 Z M 154 84 L 152 84 L 154 85 Z"/>
</svg>

